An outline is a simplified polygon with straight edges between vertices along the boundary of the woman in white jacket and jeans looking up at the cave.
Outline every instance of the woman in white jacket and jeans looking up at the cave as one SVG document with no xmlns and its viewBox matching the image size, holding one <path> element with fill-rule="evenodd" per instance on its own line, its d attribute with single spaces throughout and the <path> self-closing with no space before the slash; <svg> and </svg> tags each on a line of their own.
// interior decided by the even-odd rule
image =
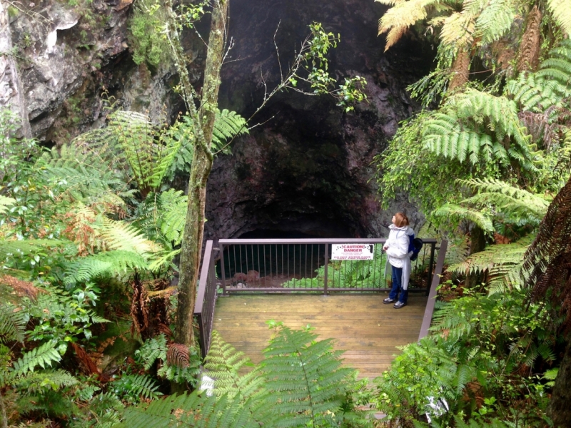
<svg viewBox="0 0 571 428">
<path fill-rule="evenodd" d="M 393 224 L 388 227 L 390 229 L 388 240 L 383 246 L 383 250 L 387 252 L 387 265 L 393 268 L 393 288 L 383 303 L 396 302 L 393 306 L 395 309 L 405 306 L 408 299 L 410 255 L 412 254 L 412 252 L 408 252 L 408 248 L 410 236 L 414 235 L 413 229 L 409 228 L 408 224 L 408 218 L 405 214 L 396 213 L 393 215 Z"/>
</svg>

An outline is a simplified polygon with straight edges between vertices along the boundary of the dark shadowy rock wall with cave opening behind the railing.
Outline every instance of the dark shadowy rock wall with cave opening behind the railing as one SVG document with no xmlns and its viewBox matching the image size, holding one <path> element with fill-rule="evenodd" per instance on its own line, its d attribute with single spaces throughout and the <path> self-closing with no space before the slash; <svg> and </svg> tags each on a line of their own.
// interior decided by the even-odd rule
<svg viewBox="0 0 571 428">
<path fill-rule="evenodd" d="M 340 34 L 330 72 L 340 80 L 365 77 L 368 103 L 343 113 L 326 96 L 278 94 L 256 116 L 263 125 L 238 140 L 233 156 L 216 158 L 208 182 L 206 238 L 238 238 L 253 230 L 384 236 L 396 210 L 405 210 L 412 225 L 420 226 L 423 219 L 408 203 L 380 209 L 371 162 L 398 122 L 417 107 L 405 87 L 432 58 L 406 40 L 383 54 L 380 13 L 369 0 L 284 0 L 271 7 L 263 0 L 233 0 L 231 56 L 238 61 L 223 68 L 221 107 L 253 113 L 264 83 L 273 88 L 280 78 L 274 34 L 284 66 L 312 21 Z"/>
</svg>

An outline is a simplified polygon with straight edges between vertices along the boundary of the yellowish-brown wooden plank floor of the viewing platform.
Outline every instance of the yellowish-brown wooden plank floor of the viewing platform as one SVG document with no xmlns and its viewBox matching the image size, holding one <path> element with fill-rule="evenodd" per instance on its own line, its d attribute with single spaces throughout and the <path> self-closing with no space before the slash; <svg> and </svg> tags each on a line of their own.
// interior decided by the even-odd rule
<svg viewBox="0 0 571 428">
<path fill-rule="evenodd" d="M 358 377 L 375 378 L 400 352 L 397 346 L 418 339 L 427 302 L 425 296 L 410 295 L 408 305 L 395 310 L 383 305 L 385 297 L 385 293 L 221 297 L 213 328 L 259 362 L 272 334 L 267 320 L 283 321 L 291 328 L 309 324 L 320 339 L 333 338 L 335 349 L 345 350 L 344 363 L 357 369 Z"/>
</svg>

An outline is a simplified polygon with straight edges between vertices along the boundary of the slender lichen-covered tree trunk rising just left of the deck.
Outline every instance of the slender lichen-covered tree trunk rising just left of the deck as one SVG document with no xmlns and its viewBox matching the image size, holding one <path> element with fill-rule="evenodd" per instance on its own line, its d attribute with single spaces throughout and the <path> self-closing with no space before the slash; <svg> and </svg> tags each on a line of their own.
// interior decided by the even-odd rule
<svg viewBox="0 0 571 428">
<path fill-rule="evenodd" d="M 191 178 L 188 182 L 188 208 L 181 248 L 175 325 L 176 342 L 188 346 L 194 345 L 192 322 L 204 234 L 206 182 L 213 161 L 210 147 L 216 109 L 218 108 L 218 88 L 220 88 L 220 70 L 226 39 L 228 0 L 216 0 L 213 8 L 201 109 L 198 112 L 193 112 L 193 106 L 191 106 L 191 111 L 189 111 L 193 116 L 195 126 L 200 126 L 201 129 L 195 136 Z M 186 101 L 187 104 L 193 104 L 193 100 Z M 196 120 L 196 113 L 198 113 L 198 121 Z"/>
</svg>

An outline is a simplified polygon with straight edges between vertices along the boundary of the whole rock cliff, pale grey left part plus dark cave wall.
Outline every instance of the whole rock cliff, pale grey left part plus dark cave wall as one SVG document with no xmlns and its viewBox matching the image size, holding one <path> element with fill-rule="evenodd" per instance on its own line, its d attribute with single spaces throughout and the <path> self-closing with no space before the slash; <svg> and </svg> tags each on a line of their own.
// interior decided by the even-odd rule
<svg viewBox="0 0 571 428">
<path fill-rule="evenodd" d="M 131 60 L 132 0 L 74 3 L 40 0 L 7 14 L 31 133 L 59 144 L 102 126 L 103 88 L 123 108 L 147 112 L 155 121 L 176 116 L 181 102 L 171 90 L 173 68 L 161 65 L 151 72 Z M 208 181 L 206 238 L 237 238 L 255 230 L 380 236 L 395 210 L 406 210 L 413 225 L 422 221 L 404 202 L 380 210 L 370 181 L 373 157 L 398 121 L 416 108 L 405 87 L 433 56 L 407 40 L 383 54 L 383 39 L 377 37 L 382 11 L 373 0 L 231 0 L 232 61 L 223 68 L 221 108 L 250 116 L 264 88 L 280 79 L 276 45 L 287 67 L 313 21 L 340 34 L 330 73 L 339 81 L 365 77 L 368 103 L 343 113 L 333 98 L 279 93 L 256 116 L 254 123 L 261 125 L 236 141 L 233 156 L 216 158 Z M 203 34 L 207 29 L 208 22 L 199 26 Z M 193 58 L 191 78 L 200 86 L 203 41 L 189 33 L 184 44 Z"/>
</svg>

